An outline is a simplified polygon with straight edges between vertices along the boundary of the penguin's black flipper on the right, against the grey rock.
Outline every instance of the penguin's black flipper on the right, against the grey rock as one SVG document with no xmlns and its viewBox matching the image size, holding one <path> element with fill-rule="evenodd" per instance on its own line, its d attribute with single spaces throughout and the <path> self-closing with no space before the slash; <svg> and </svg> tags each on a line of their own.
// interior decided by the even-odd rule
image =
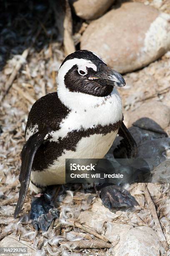
<svg viewBox="0 0 170 256">
<path fill-rule="evenodd" d="M 135 156 L 137 155 L 137 144 L 123 122 L 120 125 L 118 134 L 123 139 L 120 141 L 120 144 L 114 149 L 114 157 L 135 158 Z"/>
</svg>

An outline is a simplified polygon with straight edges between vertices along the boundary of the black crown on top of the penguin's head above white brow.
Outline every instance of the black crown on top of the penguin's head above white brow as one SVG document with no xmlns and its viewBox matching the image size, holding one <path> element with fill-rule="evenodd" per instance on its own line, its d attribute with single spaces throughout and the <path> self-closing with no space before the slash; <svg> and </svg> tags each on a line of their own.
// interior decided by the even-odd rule
<svg viewBox="0 0 170 256">
<path fill-rule="evenodd" d="M 80 51 L 75 51 L 72 54 L 69 54 L 64 61 L 62 61 L 61 66 L 65 63 L 65 61 L 69 59 L 86 59 L 94 63 L 96 66 L 99 64 L 105 64 L 100 58 L 98 58 L 95 54 L 93 54 L 91 51 L 87 50 L 80 50 Z M 60 67 L 61 67 L 60 66 Z"/>
</svg>

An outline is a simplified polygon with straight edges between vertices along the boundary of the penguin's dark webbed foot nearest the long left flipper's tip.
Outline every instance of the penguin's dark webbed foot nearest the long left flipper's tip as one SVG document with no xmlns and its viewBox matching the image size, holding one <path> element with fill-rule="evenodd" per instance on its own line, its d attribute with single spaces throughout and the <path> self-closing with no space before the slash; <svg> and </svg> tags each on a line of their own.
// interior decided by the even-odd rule
<svg viewBox="0 0 170 256">
<path fill-rule="evenodd" d="M 46 195 L 32 201 L 30 219 L 35 230 L 47 231 L 53 220 L 59 217 L 58 210 Z"/>
</svg>

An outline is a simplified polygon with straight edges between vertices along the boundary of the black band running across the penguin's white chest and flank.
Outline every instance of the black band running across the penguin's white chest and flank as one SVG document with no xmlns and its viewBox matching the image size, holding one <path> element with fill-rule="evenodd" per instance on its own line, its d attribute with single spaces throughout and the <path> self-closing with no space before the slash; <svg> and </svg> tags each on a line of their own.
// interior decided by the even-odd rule
<svg viewBox="0 0 170 256">
<path fill-rule="evenodd" d="M 86 137 L 90 137 L 94 134 L 102 134 L 106 135 L 107 133 L 111 133 L 117 131 L 122 123 L 122 120 L 117 121 L 114 124 L 109 125 L 97 125 L 94 128 L 88 128 L 87 130 L 80 131 L 71 131 L 65 136 L 65 138 L 59 138 L 57 142 L 55 141 L 47 141 L 40 146 L 38 149 L 32 169 L 42 171 L 43 169 L 47 169 L 50 164 L 53 164 L 55 160 L 59 156 L 64 154 L 64 151 L 75 151 L 77 143 Z M 81 157 L 81 156 L 80 156 Z"/>
</svg>

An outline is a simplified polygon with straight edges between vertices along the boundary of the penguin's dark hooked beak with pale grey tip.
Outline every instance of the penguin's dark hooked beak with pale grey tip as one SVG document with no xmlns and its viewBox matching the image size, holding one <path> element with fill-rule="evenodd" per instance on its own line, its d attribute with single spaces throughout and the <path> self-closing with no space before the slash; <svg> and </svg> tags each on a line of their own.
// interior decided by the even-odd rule
<svg viewBox="0 0 170 256">
<path fill-rule="evenodd" d="M 115 71 L 114 69 L 110 69 L 106 65 L 100 65 L 99 71 L 95 74 L 95 76 L 88 77 L 89 80 L 98 80 L 100 84 L 103 85 L 112 85 L 122 87 L 125 86 L 125 79 L 121 76 L 120 73 Z"/>
</svg>

